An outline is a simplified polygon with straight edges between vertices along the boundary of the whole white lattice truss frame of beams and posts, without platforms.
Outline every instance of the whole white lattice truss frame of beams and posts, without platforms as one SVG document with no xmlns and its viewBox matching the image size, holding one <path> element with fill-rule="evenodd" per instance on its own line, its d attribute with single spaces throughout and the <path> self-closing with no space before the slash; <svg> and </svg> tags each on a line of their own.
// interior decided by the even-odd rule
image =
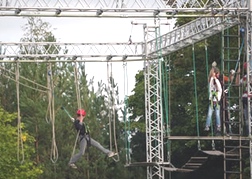
<svg viewBox="0 0 252 179">
<path fill-rule="evenodd" d="M 0 0 L 0 16 L 14 17 L 82 17 L 82 18 L 177 18 L 198 17 L 167 34 L 155 34 L 159 26 L 144 25 L 144 43 L 49 43 L 49 42 L 0 42 L 5 53 L 1 62 L 145 62 L 145 104 L 146 104 L 146 147 L 148 179 L 164 179 L 164 132 L 162 123 L 162 96 L 160 89 L 161 55 L 168 55 L 181 48 L 199 42 L 225 29 L 239 24 L 239 18 L 246 18 L 246 60 L 249 74 L 252 73 L 252 3 L 250 0 Z M 155 34 L 155 35 L 153 35 Z M 158 39 L 157 39 L 158 38 Z M 157 45 L 160 44 L 160 45 Z M 31 49 L 22 52 L 21 49 Z M 40 49 L 32 51 L 33 47 Z M 58 49 L 60 47 L 60 50 Z M 66 53 L 62 49 L 68 49 Z M 0 49 L 0 50 L 1 50 Z M 52 50 L 59 50 L 53 53 Z M 42 53 L 41 53 L 42 52 Z M 56 51 L 55 51 L 56 52 Z M 160 54 L 161 53 L 161 54 Z M 54 60 L 50 60 L 54 58 Z M 56 60 L 55 60 L 56 59 Z M 248 75 L 248 82 L 250 81 Z M 252 93 L 251 83 L 247 91 Z M 250 114 L 251 99 L 248 102 Z M 249 123 L 251 137 L 251 122 Z M 250 139 L 250 138 L 249 138 Z M 250 140 L 250 156 L 252 143 Z M 252 178 L 252 157 L 250 176 Z"/>
</svg>

